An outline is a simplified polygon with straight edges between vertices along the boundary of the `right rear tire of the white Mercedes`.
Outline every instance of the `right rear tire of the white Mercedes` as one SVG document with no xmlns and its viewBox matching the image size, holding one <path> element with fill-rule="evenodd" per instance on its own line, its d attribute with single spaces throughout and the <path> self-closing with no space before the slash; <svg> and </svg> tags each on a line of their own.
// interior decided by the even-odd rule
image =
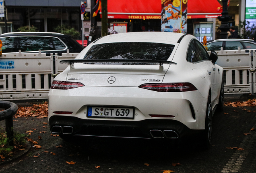
<svg viewBox="0 0 256 173">
<path fill-rule="evenodd" d="M 205 115 L 205 124 L 204 131 L 201 134 L 201 144 L 203 147 L 209 147 L 212 137 L 212 104 L 211 96 L 208 96 L 207 106 L 206 106 L 206 115 Z"/>
</svg>

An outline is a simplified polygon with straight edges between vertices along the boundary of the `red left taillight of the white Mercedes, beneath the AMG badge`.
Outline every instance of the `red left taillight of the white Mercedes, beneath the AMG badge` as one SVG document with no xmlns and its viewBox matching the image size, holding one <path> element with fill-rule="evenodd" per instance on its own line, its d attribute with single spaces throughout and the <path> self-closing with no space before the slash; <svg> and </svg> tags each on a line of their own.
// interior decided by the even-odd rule
<svg viewBox="0 0 256 173">
<path fill-rule="evenodd" d="M 66 82 L 54 80 L 51 85 L 51 89 L 73 89 L 78 87 L 84 87 L 85 85 L 80 82 Z"/>
</svg>

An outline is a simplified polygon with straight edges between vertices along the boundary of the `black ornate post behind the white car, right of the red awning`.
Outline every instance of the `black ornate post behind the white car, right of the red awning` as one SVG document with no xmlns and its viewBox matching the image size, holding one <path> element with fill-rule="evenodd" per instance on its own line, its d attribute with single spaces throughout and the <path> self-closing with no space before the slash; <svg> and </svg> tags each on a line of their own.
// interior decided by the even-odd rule
<svg viewBox="0 0 256 173">
<path fill-rule="evenodd" d="M 221 26 L 219 26 L 219 30 L 221 30 L 220 38 L 225 39 L 227 38 L 227 31 L 229 31 L 229 20 L 232 19 L 232 16 L 228 16 L 227 12 L 227 1 L 222 0 L 222 13 L 221 16 L 218 16 L 218 19 L 221 21 Z"/>
</svg>

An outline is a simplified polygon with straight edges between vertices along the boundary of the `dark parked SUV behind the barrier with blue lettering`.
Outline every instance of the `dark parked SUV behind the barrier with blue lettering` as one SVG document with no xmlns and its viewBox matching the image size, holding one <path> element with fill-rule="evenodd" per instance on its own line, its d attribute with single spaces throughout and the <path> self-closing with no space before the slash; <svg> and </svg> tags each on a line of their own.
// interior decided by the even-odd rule
<svg viewBox="0 0 256 173">
<path fill-rule="evenodd" d="M 0 35 L 2 53 L 80 53 L 83 46 L 71 36 L 56 32 L 8 32 Z"/>
</svg>

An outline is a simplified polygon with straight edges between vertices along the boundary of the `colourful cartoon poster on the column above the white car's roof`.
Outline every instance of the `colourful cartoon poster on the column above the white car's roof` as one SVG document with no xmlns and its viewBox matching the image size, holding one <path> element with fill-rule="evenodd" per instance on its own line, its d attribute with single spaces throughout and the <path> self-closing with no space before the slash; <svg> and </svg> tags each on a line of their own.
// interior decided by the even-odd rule
<svg viewBox="0 0 256 173">
<path fill-rule="evenodd" d="M 162 0 L 161 31 L 187 33 L 188 0 Z"/>
</svg>

